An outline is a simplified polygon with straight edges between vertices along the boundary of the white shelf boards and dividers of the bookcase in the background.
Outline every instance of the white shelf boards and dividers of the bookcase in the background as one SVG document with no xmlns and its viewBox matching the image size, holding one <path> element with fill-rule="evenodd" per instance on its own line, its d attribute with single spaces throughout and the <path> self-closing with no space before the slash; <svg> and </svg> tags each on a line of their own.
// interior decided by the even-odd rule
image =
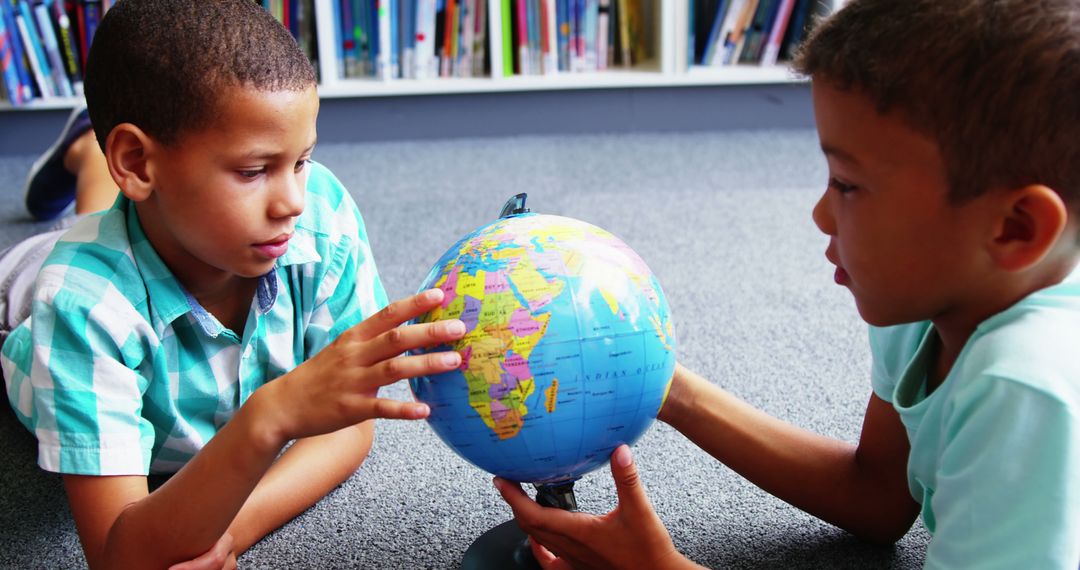
<svg viewBox="0 0 1080 570">
<path fill-rule="evenodd" d="M 355 97 L 400 97 L 414 95 L 462 95 L 513 92 L 546 92 L 578 90 L 618 90 L 717 85 L 775 85 L 797 83 L 785 65 L 726 65 L 706 67 L 688 65 L 689 0 L 639 0 L 644 36 L 651 45 L 651 54 L 632 67 L 615 67 L 603 71 L 558 72 L 555 74 L 514 74 L 502 77 L 432 78 L 432 79 L 376 79 L 342 78 L 337 43 L 340 32 L 335 10 L 339 0 L 313 0 L 315 41 L 320 56 L 320 96 L 325 99 Z M 491 39 L 499 38 L 501 18 L 500 0 L 483 0 L 487 10 L 487 43 L 490 69 L 500 69 L 502 53 L 490 49 Z M 702 0 L 697 0 L 702 1 Z M 846 0 L 813 0 L 819 13 L 836 10 Z M 325 54 L 332 54 L 327 57 Z M 78 101 L 70 97 L 33 99 L 15 107 L 6 100 L 0 103 L 0 112 L 55 110 L 70 108 Z"/>
</svg>

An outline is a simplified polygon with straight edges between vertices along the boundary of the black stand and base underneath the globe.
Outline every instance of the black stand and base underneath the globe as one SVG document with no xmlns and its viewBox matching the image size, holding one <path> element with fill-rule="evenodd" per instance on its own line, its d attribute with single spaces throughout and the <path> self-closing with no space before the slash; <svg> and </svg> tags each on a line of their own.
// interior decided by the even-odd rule
<svg viewBox="0 0 1080 570">
<path fill-rule="evenodd" d="M 573 481 L 555 485 L 537 485 L 537 502 L 543 506 L 577 511 Z M 461 570 L 539 570 L 540 564 L 529 548 L 528 535 L 510 519 L 483 533 L 473 541 L 464 557 Z"/>
</svg>

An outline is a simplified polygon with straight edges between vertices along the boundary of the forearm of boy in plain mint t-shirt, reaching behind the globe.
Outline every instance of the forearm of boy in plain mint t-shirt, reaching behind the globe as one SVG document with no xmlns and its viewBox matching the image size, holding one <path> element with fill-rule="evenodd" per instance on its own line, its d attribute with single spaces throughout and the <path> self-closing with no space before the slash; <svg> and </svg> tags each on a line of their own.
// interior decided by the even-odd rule
<svg viewBox="0 0 1080 570">
<path fill-rule="evenodd" d="M 771 494 L 864 538 L 888 542 L 914 519 L 896 474 L 881 485 L 855 446 L 773 418 L 681 366 L 660 419 Z M 905 460 L 906 451 L 901 479 Z M 875 513 L 882 503 L 888 513 Z"/>
</svg>

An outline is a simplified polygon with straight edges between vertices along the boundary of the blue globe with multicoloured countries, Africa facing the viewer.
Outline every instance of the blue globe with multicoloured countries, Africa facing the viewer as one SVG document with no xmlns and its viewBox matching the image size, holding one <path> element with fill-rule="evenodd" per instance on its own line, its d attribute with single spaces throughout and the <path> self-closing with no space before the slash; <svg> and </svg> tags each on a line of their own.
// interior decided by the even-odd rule
<svg viewBox="0 0 1080 570">
<path fill-rule="evenodd" d="M 524 212 L 469 233 L 432 268 L 420 289 L 445 296 L 418 321 L 463 321 L 464 338 L 433 349 L 458 351 L 462 364 L 409 383 L 462 458 L 549 486 L 603 465 L 649 428 L 675 335 L 660 283 L 625 243 Z"/>
</svg>

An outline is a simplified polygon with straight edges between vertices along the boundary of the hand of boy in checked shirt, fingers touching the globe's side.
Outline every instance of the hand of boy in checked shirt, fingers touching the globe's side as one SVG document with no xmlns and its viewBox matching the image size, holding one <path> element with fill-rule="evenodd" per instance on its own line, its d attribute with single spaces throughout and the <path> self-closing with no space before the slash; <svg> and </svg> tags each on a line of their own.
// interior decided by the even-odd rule
<svg viewBox="0 0 1080 570">
<path fill-rule="evenodd" d="M 457 320 L 405 324 L 442 301 L 440 289 L 394 301 L 342 332 L 311 359 L 264 385 L 255 396 L 261 396 L 260 405 L 271 410 L 274 420 L 269 425 L 278 426 L 284 443 L 375 418 L 426 418 L 427 405 L 380 398 L 378 389 L 461 365 L 461 355 L 454 351 L 405 354 L 464 336 L 465 326 Z"/>
</svg>

